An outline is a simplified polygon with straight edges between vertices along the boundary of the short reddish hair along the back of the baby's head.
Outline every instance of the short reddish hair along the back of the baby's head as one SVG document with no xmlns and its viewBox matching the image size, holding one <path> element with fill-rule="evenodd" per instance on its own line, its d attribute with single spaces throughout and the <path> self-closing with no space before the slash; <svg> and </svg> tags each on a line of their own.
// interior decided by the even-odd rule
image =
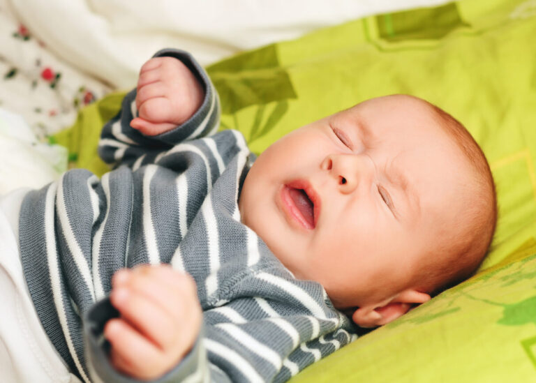
<svg viewBox="0 0 536 383">
<path fill-rule="evenodd" d="M 427 102 L 426 102 L 427 103 Z M 491 245 L 497 224 L 497 195 L 489 163 L 469 131 L 454 117 L 429 103 L 447 135 L 461 149 L 472 176 L 472 203 L 461 213 L 457 230 L 429 253 L 419 285 L 433 295 L 470 278 Z"/>
</svg>

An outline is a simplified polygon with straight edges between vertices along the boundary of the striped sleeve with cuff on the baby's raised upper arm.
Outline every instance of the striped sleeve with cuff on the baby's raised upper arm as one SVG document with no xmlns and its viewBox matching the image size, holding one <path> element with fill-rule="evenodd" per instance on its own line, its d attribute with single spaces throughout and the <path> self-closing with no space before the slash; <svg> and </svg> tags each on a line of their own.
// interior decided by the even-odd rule
<svg viewBox="0 0 536 383">
<path fill-rule="evenodd" d="M 142 135 L 131 128 L 137 117 L 136 90 L 129 92 L 121 105 L 121 111 L 103 128 L 98 153 L 105 163 L 118 167 L 128 165 L 137 170 L 142 165 L 155 163 L 156 158 L 181 142 L 211 135 L 219 126 L 220 105 L 216 89 L 207 73 L 191 57 L 180 50 L 161 50 L 154 57 L 174 57 L 191 70 L 204 89 L 204 100 L 193 116 L 169 132 L 156 136 Z"/>
</svg>

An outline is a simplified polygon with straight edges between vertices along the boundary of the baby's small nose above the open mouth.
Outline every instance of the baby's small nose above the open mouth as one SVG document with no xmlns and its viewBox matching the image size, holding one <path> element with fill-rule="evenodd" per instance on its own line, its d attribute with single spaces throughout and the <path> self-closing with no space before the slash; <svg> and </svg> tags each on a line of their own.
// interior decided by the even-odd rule
<svg viewBox="0 0 536 383">
<path fill-rule="evenodd" d="M 352 193 L 360 183 L 370 183 L 375 168 L 370 157 L 346 153 L 326 156 L 321 167 L 329 171 L 345 194 Z"/>
</svg>

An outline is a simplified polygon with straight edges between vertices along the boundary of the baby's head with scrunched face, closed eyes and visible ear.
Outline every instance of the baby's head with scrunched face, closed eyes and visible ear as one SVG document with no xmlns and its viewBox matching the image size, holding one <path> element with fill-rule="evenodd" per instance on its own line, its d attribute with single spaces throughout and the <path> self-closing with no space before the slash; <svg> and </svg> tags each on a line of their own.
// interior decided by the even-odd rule
<svg viewBox="0 0 536 383">
<path fill-rule="evenodd" d="M 285 135 L 253 164 L 241 220 L 360 326 L 468 278 L 496 223 L 484 154 L 412 96 L 373 98 Z"/>
</svg>

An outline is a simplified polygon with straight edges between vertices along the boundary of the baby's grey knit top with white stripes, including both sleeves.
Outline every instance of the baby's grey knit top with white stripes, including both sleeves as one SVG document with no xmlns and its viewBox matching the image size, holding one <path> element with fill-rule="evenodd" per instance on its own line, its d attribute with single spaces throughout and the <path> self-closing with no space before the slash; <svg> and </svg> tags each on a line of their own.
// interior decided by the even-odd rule
<svg viewBox="0 0 536 383">
<path fill-rule="evenodd" d="M 186 52 L 163 50 L 198 77 L 193 117 L 145 137 L 130 127 L 135 91 L 103 128 L 99 180 L 70 170 L 24 197 L 20 253 L 41 324 L 82 382 L 133 382 L 106 357 L 107 299 L 122 267 L 170 263 L 198 286 L 203 326 L 193 350 L 158 382 L 283 382 L 355 338 L 318 283 L 297 280 L 240 222 L 253 156 L 234 130 L 215 133 L 218 96 Z"/>
</svg>

